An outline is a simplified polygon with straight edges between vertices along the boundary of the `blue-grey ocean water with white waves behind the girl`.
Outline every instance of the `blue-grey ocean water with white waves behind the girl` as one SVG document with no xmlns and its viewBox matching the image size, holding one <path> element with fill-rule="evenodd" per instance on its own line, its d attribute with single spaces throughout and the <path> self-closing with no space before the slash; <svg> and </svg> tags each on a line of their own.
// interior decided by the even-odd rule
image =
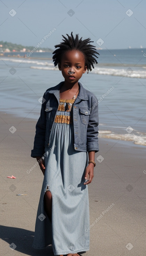
<svg viewBox="0 0 146 256">
<path fill-rule="evenodd" d="M 98 64 L 80 82 L 99 100 L 99 137 L 146 146 L 146 49 L 98 52 Z M 52 53 L 23 56 L 0 56 L 0 108 L 37 120 L 40 97 L 64 78 Z"/>
</svg>

